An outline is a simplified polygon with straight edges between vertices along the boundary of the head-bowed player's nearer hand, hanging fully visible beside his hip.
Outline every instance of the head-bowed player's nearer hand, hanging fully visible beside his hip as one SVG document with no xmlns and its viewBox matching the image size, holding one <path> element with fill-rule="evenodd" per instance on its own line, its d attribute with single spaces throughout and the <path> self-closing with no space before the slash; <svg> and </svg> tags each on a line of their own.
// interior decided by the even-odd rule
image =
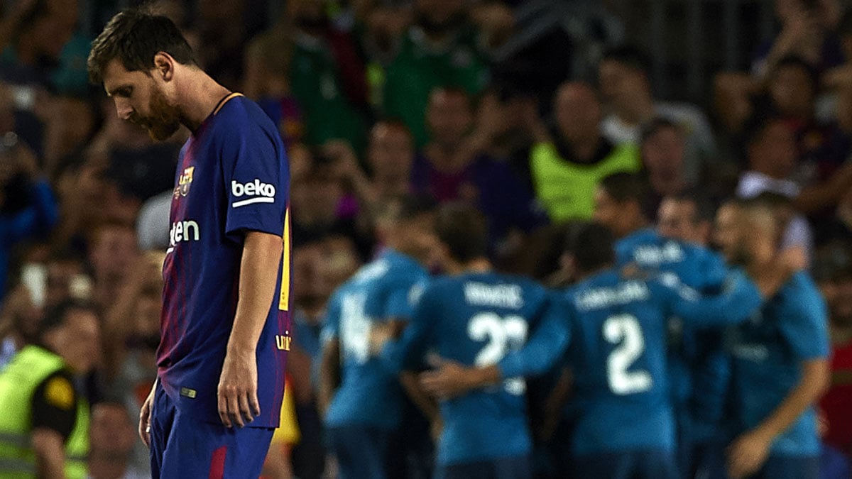
<svg viewBox="0 0 852 479">
<path fill-rule="evenodd" d="M 255 351 L 228 351 L 222 364 L 217 391 L 219 418 L 225 427 L 244 427 L 260 415 L 257 401 L 257 359 Z"/>
</svg>

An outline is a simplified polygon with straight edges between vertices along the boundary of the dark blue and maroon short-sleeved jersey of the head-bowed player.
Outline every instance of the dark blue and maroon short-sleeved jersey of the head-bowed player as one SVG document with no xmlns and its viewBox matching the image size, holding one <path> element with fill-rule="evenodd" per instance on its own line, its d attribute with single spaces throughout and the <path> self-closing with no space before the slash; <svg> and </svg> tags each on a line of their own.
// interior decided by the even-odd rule
<svg viewBox="0 0 852 479">
<path fill-rule="evenodd" d="M 182 414 L 219 421 L 216 389 L 239 293 L 245 235 L 282 238 L 257 343 L 255 427 L 277 427 L 290 349 L 289 166 L 278 130 L 242 95 L 223 99 L 181 150 L 163 267 L 158 376 Z"/>
</svg>

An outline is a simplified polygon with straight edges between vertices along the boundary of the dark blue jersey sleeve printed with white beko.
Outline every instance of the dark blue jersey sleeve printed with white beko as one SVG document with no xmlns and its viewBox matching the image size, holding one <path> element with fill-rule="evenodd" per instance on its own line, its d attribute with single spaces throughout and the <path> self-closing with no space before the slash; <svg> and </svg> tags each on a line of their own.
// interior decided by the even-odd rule
<svg viewBox="0 0 852 479">
<path fill-rule="evenodd" d="M 232 240 L 245 231 L 281 236 L 289 188 L 283 144 L 250 118 L 232 124 L 222 138 L 225 234 Z"/>
</svg>

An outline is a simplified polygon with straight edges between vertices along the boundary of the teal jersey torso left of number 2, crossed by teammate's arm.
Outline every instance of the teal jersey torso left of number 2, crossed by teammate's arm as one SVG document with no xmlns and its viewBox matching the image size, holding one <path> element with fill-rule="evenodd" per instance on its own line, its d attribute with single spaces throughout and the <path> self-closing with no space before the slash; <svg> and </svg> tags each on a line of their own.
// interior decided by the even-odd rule
<svg viewBox="0 0 852 479">
<path fill-rule="evenodd" d="M 435 321 L 422 347 L 468 366 L 498 363 L 521 349 L 551 307 L 550 292 L 531 280 L 495 273 L 435 280 L 423 291 L 416 321 Z M 526 383 L 502 384 L 441 401 L 444 430 L 438 464 L 510 458 L 530 452 Z"/>
</svg>

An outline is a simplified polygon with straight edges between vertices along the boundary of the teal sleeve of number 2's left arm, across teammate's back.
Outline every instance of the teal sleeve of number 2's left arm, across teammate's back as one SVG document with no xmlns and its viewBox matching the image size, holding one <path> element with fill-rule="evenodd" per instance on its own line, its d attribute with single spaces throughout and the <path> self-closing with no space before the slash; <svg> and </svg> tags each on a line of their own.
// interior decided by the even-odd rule
<svg viewBox="0 0 852 479">
<path fill-rule="evenodd" d="M 566 312 L 556 294 L 546 299 L 544 311 L 524 347 L 511 351 L 497 364 L 501 376 L 538 376 L 565 354 L 570 338 Z"/>
</svg>

